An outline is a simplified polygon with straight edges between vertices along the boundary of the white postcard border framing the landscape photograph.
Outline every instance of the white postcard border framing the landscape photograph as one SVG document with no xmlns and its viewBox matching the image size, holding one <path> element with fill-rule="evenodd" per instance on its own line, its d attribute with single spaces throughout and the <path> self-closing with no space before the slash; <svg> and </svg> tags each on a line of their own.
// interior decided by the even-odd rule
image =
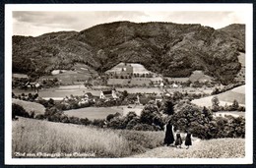
<svg viewBox="0 0 256 168">
<path fill-rule="evenodd" d="M 241 11 L 246 14 L 246 134 L 244 158 L 12 158 L 13 11 Z M 251 164 L 253 160 L 252 4 L 20 4 L 5 6 L 5 164 Z"/>
</svg>

